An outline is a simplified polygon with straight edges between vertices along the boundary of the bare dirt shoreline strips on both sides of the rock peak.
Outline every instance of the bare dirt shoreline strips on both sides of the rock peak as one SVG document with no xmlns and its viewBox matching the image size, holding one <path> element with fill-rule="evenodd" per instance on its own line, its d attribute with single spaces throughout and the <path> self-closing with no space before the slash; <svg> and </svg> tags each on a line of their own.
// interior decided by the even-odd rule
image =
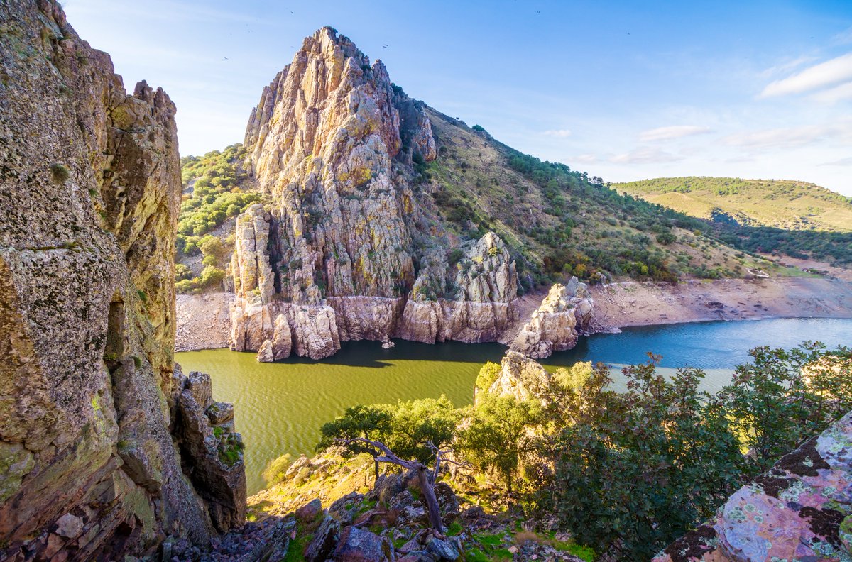
<svg viewBox="0 0 852 562">
<path fill-rule="evenodd" d="M 678 284 L 625 281 L 590 287 L 595 301 L 587 335 L 631 326 L 772 318 L 852 318 L 852 283 L 838 278 L 688 279 Z M 498 338 L 514 339 L 546 292 L 517 300 L 521 319 Z M 175 351 L 230 347 L 233 295 L 177 295 Z"/>
</svg>

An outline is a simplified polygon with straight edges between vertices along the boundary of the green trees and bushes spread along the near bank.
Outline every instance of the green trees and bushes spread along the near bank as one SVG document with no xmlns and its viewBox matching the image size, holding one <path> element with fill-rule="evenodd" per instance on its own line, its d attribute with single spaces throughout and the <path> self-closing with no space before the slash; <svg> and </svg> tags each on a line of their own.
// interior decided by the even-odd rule
<svg viewBox="0 0 852 562">
<path fill-rule="evenodd" d="M 475 406 L 456 410 L 440 399 L 352 408 L 322 428 L 319 448 L 369 433 L 430 462 L 425 444 L 450 446 L 474 473 L 453 481 L 467 496 L 503 490 L 529 516 L 555 514 L 598 555 L 649 559 L 852 409 L 848 348 L 757 347 L 751 357 L 715 394 L 699 389 L 701 370 L 666 378 L 651 355 L 622 371 L 625 392 L 613 390 L 605 365 L 578 364 L 522 401 L 488 392 L 499 366 L 486 364 Z"/>
</svg>

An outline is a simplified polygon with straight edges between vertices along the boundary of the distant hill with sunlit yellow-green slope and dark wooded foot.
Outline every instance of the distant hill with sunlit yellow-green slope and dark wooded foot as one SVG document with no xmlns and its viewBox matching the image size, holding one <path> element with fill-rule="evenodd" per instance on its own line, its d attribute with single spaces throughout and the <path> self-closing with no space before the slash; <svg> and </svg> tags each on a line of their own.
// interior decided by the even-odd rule
<svg viewBox="0 0 852 562">
<path fill-rule="evenodd" d="M 725 244 L 751 252 L 852 263 L 852 198 L 797 181 L 657 178 L 615 184 L 708 221 Z"/>
</svg>

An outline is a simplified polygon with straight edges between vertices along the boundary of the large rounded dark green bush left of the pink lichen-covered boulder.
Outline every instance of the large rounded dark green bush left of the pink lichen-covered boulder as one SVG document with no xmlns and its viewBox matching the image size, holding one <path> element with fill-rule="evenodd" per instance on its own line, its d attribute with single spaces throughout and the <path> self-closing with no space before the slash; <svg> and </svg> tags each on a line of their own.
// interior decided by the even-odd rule
<svg viewBox="0 0 852 562">
<path fill-rule="evenodd" d="M 617 559 L 650 559 L 739 484 L 739 443 L 722 404 L 699 392 L 700 370 L 627 367 L 627 391 L 599 364 L 574 394 L 575 420 L 544 455 L 554 473 L 539 492 L 580 542 Z M 569 397 L 569 400 L 572 398 Z"/>
</svg>

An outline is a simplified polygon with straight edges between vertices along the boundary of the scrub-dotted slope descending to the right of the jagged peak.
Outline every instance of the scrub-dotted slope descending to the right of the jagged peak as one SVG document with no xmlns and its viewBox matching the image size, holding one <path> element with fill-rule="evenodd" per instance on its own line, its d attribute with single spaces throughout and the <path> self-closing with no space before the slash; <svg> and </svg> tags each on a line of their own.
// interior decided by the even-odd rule
<svg viewBox="0 0 852 562">
<path fill-rule="evenodd" d="M 596 270 L 613 278 L 740 277 L 746 268 L 772 269 L 740 250 L 705 236 L 703 221 L 619 195 L 584 174 L 561 164 L 536 163 L 533 170 L 518 169 L 520 152 L 494 141 L 484 130 L 466 127 L 429 108 L 440 157 L 426 166 L 423 190 L 434 192 L 435 208 L 445 225 L 465 235 L 463 221 L 453 224 L 452 209 L 473 209 L 481 221 L 527 258 L 534 281 L 544 283 L 572 273 L 592 278 Z M 528 160 L 532 158 L 525 157 Z M 542 181 L 538 168 L 556 169 L 558 179 Z M 540 171 L 540 170 L 538 170 Z M 537 181 L 538 178 L 538 181 Z M 675 240 L 661 244 L 671 233 Z M 468 236 L 472 233 L 468 232 Z M 665 239 L 665 235 L 664 235 Z M 653 264 L 659 267 L 653 275 Z M 578 266 L 583 265 L 578 271 Z M 650 271 L 642 265 L 652 266 Z"/>
</svg>

